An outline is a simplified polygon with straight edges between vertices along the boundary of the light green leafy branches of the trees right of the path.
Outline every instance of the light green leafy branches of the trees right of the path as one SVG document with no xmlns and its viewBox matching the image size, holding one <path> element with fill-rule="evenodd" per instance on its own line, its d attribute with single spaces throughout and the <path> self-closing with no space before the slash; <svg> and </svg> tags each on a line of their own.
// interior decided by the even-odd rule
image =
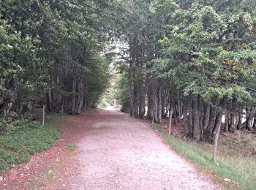
<svg viewBox="0 0 256 190">
<path fill-rule="evenodd" d="M 222 4 L 222 11 L 219 3 L 152 1 L 154 15 L 166 15 L 168 21 L 165 37 L 159 40 L 163 58 L 154 61 L 151 72 L 172 80 L 185 96 L 252 102 L 255 12 L 249 1 Z M 237 6 L 241 9 L 232 12 Z"/>
</svg>

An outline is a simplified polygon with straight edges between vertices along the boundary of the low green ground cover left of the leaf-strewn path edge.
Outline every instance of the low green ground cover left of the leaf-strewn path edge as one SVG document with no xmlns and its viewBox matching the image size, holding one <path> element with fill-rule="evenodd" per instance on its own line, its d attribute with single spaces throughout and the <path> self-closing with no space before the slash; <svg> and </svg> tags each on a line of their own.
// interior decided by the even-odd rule
<svg viewBox="0 0 256 190">
<path fill-rule="evenodd" d="M 48 116 L 45 126 L 26 121 L 17 129 L 1 134 L 0 171 L 7 170 L 12 164 L 29 161 L 32 154 L 50 148 L 59 137 L 58 117 L 59 115 Z"/>
</svg>

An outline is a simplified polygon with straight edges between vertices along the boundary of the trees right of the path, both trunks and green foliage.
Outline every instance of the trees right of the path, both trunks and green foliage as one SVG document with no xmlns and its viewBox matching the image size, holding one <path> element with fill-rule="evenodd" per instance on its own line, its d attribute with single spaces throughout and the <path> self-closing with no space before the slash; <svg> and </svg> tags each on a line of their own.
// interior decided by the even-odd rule
<svg viewBox="0 0 256 190">
<path fill-rule="evenodd" d="M 255 130 L 255 7 L 255 1 L 121 4 L 129 45 L 129 58 L 118 63 L 122 109 L 157 123 L 171 113 L 195 140 L 212 140 L 222 115 L 225 131 Z"/>
</svg>

